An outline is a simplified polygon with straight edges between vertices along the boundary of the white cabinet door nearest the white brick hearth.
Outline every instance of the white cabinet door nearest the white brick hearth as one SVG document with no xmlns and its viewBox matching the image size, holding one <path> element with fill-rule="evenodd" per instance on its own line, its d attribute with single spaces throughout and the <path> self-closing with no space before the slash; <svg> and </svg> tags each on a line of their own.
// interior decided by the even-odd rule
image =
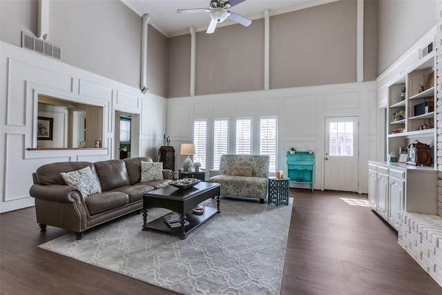
<svg viewBox="0 0 442 295">
<path fill-rule="evenodd" d="M 388 186 L 390 191 L 388 223 L 397 230 L 400 222 L 399 211 L 403 211 L 405 181 L 390 177 Z"/>
</svg>

